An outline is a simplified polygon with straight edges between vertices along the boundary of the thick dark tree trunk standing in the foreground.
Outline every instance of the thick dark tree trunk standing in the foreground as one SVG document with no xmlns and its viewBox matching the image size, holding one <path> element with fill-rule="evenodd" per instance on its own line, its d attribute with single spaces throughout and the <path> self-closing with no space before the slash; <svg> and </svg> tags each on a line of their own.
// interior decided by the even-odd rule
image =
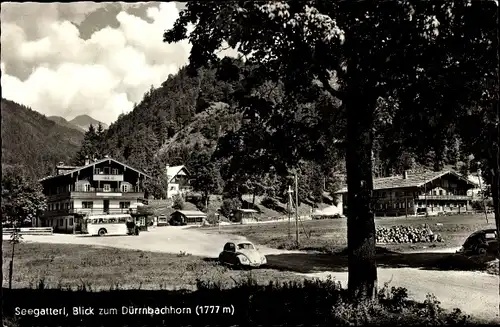
<svg viewBox="0 0 500 327">
<path fill-rule="evenodd" d="M 349 293 L 358 299 L 373 299 L 377 289 L 375 221 L 371 208 L 373 192 L 372 117 L 375 101 L 354 94 L 345 102 L 347 110 L 347 246 Z"/>
</svg>

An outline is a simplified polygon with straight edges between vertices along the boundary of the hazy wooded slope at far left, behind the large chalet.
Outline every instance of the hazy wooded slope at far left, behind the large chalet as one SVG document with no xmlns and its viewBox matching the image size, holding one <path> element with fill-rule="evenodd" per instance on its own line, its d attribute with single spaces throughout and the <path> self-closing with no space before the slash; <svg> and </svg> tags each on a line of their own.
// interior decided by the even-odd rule
<svg viewBox="0 0 500 327">
<path fill-rule="evenodd" d="M 84 134 L 61 126 L 30 108 L 2 99 L 2 166 L 21 165 L 33 177 L 52 172 L 59 161 L 69 162 Z"/>
</svg>

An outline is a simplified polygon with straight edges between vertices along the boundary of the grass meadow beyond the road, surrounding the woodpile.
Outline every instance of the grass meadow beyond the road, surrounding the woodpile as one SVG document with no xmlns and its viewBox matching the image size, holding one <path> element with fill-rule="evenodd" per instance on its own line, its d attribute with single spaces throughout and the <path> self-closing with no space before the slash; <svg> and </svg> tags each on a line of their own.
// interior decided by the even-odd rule
<svg viewBox="0 0 500 327">
<path fill-rule="evenodd" d="M 376 218 L 376 226 L 391 227 L 395 225 L 421 226 L 428 224 L 434 233 L 443 237 L 443 242 L 384 244 L 392 251 L 419 250 L 429 247 L 458 247 L 463 244 L 471 232 L 482 228 L 494 228 L 494 217 L 488 217 L 489 224 L 483 215 L 456 215 L 439 217 L 386 217 Z M 440 223 L 442 225 L 436 225 Z M 217 233 L 217 227 L 207 227 L 209 233 Z M 272 248 L 293 249 L 295 246 L 295 221 L 276 222 L 252 225 L 221 226 L 220 231 L 247 237 L 249 240 Z M 289 235 L 290 231 L 290 237 Z M 307 235 L 306 235 L 307 233 Z M 308 237 L 309 236 L 309 237 Z M 324 219 L 308 220 L 299 223 L 299 238 L 302 250 L 317 250 L 321 252 L 337 252 L 347 246 L 347 220 Z"/>
</svg>

